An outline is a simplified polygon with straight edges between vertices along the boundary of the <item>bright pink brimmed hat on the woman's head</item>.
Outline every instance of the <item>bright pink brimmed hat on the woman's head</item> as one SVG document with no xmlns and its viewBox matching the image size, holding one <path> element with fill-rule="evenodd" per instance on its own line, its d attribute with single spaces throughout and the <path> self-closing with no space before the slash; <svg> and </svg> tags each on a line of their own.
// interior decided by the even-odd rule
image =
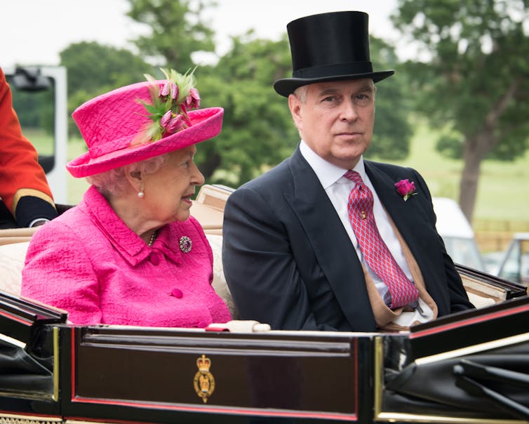
<svg viewBox="0 0 529 424">
<path fill-rule="evenodd" d="M 76 178 L 86 177 L 173 152 L 218 135 L 222 128 L 222 107 L 192 112 L 187 112 L 183 107 L 186 124 L 180 127 L 178 132 L 160 132 L 159 140 L 151 139 L 137 144 L 138 138 L 145 139 L 149 124 L 159 125 L 152 124 L 152 118 L 149 117 L 148 107 L 155 101 L 152 93 L 159 95 L 163 87 L 170 83 L 170 80 L 161 80 L 132 84 L 88 100 L 78 107 L 72 117 L 88 145 L 88 152 L 68 162 L 66 168 L 69 173 Z M 174 84 L 173 87 L 177 98 L 180 99 L 178 88 Z M 170 89 L 169 95 L 171 93 L 173 88 Z M 198 100 L 194 105 L 198 105 L 200 98 L 196 90 L 194 93 Z M 187 105 L 189 106 L 189 96 Z M 173 113 L 173 117 L 177 117 L 176 115 L 178 112 Z"/>
</svg>

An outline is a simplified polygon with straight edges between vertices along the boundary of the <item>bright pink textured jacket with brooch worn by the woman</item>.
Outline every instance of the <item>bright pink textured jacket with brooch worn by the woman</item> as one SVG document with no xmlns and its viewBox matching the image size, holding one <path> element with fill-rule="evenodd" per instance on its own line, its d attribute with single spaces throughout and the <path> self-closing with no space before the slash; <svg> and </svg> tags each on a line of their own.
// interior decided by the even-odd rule
<svg viewBox="0 0 529 424">
<path fill-rule="evenodd" d="M 189 253 L 180 249 L 186 236 Z M 203 327 L 231 319 L 212 279 L 213 254 L 194 218 L 162 227 L 149 248 L 90 187 L 32 237 L 22 296 L 67 310 L 74 324 Z"/>
</svg>

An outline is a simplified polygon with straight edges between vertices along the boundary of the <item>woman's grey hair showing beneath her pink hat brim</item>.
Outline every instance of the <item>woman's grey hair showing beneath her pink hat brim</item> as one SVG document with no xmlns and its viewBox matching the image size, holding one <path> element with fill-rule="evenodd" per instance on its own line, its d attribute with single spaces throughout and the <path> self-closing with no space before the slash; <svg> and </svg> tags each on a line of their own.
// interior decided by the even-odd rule
<svg viewBox="0 0 529 424">
<path fill-rule="evenodd" d="M 155 173 L 165 163 L 168 154 L 161 154 L 143 161 L 135 162 L 119 168 L 109 169 L 86 177 L 89 184 L 94 185 L 106 199 L 119 197 L 126 192 L 130 184 L 127 173 L 140 172 L 142 174 Z"/>
</svg>

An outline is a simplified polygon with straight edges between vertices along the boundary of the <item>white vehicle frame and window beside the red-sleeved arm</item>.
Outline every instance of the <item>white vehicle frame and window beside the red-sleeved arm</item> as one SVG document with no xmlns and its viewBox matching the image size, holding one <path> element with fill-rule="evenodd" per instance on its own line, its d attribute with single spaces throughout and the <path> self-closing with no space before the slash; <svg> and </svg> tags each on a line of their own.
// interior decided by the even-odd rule
<svg viewBox="0 0 529 424">
<path fill-rule="evenodd" d="M 39 153 L 56 204 L 67 204 L 67 72 L 59 66 L 2 66 L 22 133 Z"/>
</svg>

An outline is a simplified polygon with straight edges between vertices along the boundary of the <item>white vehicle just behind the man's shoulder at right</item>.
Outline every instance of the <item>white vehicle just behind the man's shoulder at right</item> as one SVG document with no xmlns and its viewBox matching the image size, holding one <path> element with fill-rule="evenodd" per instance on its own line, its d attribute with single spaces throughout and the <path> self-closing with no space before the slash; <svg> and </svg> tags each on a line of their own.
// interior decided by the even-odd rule
<svg viewBox="0 0 529 424">
<path fill-rule="evenodd" d="M 483 257 L 474 238 L 474 230 L 460 206 L 448 197 L 433 197 L 437 216 L 437 232 L 443 238 L 446 251 L 455 263 L 485 271 Z"/>
</svg>

